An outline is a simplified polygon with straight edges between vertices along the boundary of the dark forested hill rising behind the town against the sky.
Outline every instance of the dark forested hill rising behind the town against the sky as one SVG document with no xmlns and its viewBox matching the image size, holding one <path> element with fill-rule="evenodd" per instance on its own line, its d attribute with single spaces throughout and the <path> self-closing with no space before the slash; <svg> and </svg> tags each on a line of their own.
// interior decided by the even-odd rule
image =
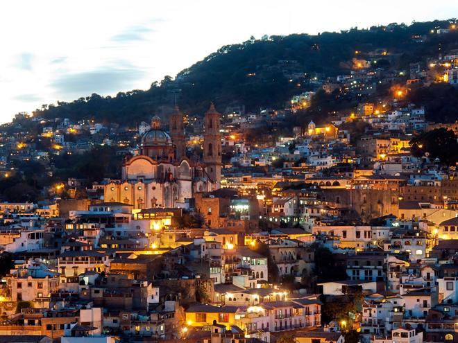
<svg viewBox="0 0 458 343">
<path fill-rule="evenodd" d="M 245 105 L 248 111 L 278 108 L 291 96 L 311 90 L 309 79 L 349 73 L 355 51 L 360 51 L 364 58 L 366 53 L 387 49 L 398 55 L 396 65 L 387 59 L 381 60 L 378 67 L 408 70 L 411 62 L 425 62 L 441 51 L 456 49 L 455 31 L 445 35 L 430 33 L 434 28 L 449 26 L 449 21 L 431 21 L 410 26 L 353 28 L 341 33 L 253 38 L 242 44 L 223 46 L 178 73 L 176 78 L 166 76 L 160 82 L 153 82 L 146 91 L 120 92 L 114 97 L 92 94 L 71 103 L 44 105 L 35 115 L 133 123 L 152 114 L 167 113 L 175 98 L 189 114 L 205 112 L 210 100 L 220 110 L 228 105 Z M 415 35 L 425 35 L 427 39 L 419 42 L 412 39 Z M 285 70 L 305 77 L 300 82 L 291 82 Z"/>
</svg>

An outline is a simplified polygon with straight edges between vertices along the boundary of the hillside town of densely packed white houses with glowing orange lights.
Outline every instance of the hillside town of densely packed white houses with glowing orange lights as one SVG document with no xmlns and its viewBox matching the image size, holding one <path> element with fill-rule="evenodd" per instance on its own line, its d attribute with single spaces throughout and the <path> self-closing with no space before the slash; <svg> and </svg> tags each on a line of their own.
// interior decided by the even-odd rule
<svg viewBox="0 0 458 343">
<path fill-rule="evenodd" d="M 17 114 L 0 179 L 49 182 L 2 193 L 0 342 L 458 342 L 458 123 L 407 100 L 458 85 L 458 50 L 377 67 L 398 58 L 355 51 L 337 77 L 278 60 L 311 90 L 257 112 Z M 358 105 L 304 121 L 319 94 Z M 96 149 L 117 173 L 65 174 Z"/>
</svg>

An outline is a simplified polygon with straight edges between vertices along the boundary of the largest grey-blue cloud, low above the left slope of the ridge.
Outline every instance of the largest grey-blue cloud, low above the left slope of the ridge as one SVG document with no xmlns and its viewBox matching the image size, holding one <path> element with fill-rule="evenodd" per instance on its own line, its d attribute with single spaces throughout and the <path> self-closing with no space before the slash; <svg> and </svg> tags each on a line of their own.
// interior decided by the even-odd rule
<svg viewBox="0 0 458 343">
<path fill-rule="evenodd" d="M 59 97 L 68 98 L 87 94 L 113 94 L 129 89 L 144 71 L 135 67 L 102 68 L 83 73 L 71 73 L 59 76 L 51 82 Z"/>
</svg>

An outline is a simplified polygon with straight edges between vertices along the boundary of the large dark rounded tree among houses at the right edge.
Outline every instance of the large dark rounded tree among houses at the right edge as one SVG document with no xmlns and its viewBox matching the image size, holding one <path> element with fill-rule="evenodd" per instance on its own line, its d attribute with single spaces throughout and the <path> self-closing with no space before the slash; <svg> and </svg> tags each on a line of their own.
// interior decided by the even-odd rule
<svg viewBox="0 0 458 343">
<path fill-rule="evenodd" d="M 445 128 L 424 132 L 410 141 L 412 155 L 439 158 L 442 163 L 455 165 L 458 162 L 458 142 L 455 133 Z"/>
</svg>

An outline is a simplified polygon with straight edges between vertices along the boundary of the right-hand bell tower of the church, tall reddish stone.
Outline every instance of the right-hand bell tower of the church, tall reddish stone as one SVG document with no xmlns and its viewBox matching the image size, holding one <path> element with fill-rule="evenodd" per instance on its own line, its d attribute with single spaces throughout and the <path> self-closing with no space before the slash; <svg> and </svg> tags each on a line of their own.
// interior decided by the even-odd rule
<svg viewBox="0 0 458 343">
<path fill-rule="evenodd" d="M 221 186 L 221 135 L 219 134 L 219 118 L 221 114 L 213 103 L 205 113 L 205 132 L 203 134 L 203 162 L 205 172 L 214 184 L 214 189 Z"/>
</svg>

